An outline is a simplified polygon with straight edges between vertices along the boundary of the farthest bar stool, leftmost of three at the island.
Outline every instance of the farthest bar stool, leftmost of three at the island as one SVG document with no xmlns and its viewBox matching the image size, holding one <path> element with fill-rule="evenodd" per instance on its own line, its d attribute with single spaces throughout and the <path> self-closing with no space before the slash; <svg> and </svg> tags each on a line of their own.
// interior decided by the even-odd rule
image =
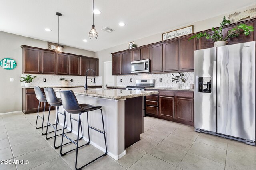
<svg viewBox="0 0 256 170">
<path fill-rule="evenodd" d="M 48 125 L 44 126 L 44 113 L 43 113 L 43 117 L 41 117 L 38 114 L 39 114 L 39 108 L 40 108 L 41 102 L 44 102 L 44 111 L 45 111 L 45 105 L 46 105 L 47 100 L 46 100 L 46 97 L 44 96 L 44 94 L 43 94 L 43 92 L 42 92 L 40 87 L 34 86 L 34 90 L 35 90 L 35 93 L 36 93 L 36 98 L 37 98 L 37 100 L 39 100 L 38 110 L 37 110 L 37 117 L 36 117 L 36 129 L 42 128 L 42 131 L 41 131 L 42 135 L 46 135 L 46 133 L 43 133 L 43 128 L 48 126 Z M 40 119 L 42 119 L 42 127 L 37 127 L 38 117 Z M 55 124 L 53 124 L 53 125 L 55 125 Z"/>
</svg>

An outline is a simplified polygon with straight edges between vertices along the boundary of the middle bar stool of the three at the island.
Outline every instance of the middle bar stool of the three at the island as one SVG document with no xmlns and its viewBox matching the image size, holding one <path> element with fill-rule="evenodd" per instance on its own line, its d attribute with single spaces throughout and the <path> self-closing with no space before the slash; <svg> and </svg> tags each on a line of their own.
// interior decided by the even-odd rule
<svg viewBox="0 0 256 170">
<path fill-rule="evenodd" d="M 58 115 L 59 115 L 59 114 L 64 115 L 64 114 L 62 114 L 62 113 L 59 112 L 59 108 L 60 108 L 60 106 L 62 106 L 62 102 L 61 102 L 61 99 L 60 99 L 60 98 L 57 98 L 57 96 L 56 96 L 56 94 L 55 94 L 53 88 L 44 88 L 44 93 L 45 93 L 46 100 L 47 100 L 48 104 L 50 105 L 50 106 L 49 106 L 49 114 L 48 114 L 47 125 L 50 125 L 52 128 L 55 129 L 54 131 L 48 132 L 48 126 L 47 126 L 47 127 L 46 127 L 46 135 L 45 135 L 45 137 L 46 137 L 46 140 L 51 139 L 51 138 L 54 137 L 54 148 L 57 149 L 57 148 L 59 148 L 60 146 L 57 146 L 57 147 L 56 147 L 56 136 L 60 136 L 60 135 L 62 135 L 62 134 L 56 135 L 56 133 L 57 133 L 57 131 L 60 131 L 60 130 L 63 130 L 63 129 L 66 129 L 66 128 L 67 128 L 67 125 L 66 125 L 66 127 L 63 126 L 62 129 L 58 129 L 58 130 L 57 130 L 57 126 L 58 126 L 58 124 L 59 124 L 59 116 L 58 116 Z M 57 107 L 56 127 L 54 127 L 51 123 L 49 123 L 51 106 Z M 65 109 L 64 109 L 64 108 L 63 108 L 63 110 L 64 110 L 63 113 L 65 113 Z M 65 119 L 64 121 L 66 122 L 66 119 Z M 66 132 L 66 133 L 72 132 L 71 114 L 70 114 L 70 125 L 71 125 L 71 130 L 68 131 L 68 132 Z M 47 137 L 47 134 L 48 134 L 48 133 L 52 133 L 52 132 L 55 132 L 55 135 L 52 136 L 52 137 Z M 66 133 L 65 133 L 65 134 L 66 134 Z"/>
</svg>

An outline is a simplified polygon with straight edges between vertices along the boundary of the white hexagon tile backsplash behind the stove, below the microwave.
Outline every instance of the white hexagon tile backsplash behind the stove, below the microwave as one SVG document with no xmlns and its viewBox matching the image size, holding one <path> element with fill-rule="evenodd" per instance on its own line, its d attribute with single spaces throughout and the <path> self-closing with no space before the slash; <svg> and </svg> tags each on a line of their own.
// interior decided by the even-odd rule
<svg viewBox="0 0 256 170">
<path fill-rule="evenodd" d="M 186 82 L 183 83 L 180 80 L 180 88 L 190 88 L 190 84 L 194 84 L 194 72 L 183 72 L 185 74 L 184 78 Z M 178 73 L 172 73 L 175 76 L 179 75 Z M 154 79 L 155 87 L 163 88 L 174 88 L 172 78 L 174 77 L 171 73 L 165 74 L 138 74 L 138 75 L 126 75 L 126 76 L 117 76 L 117 86 L 135 86 L 136 79 Z M 130 79 L 132 78 L 132 82 Z M 159 81 L 159 78 L 162 78 L 162 82 Z M 122 79 L 122 82 L 120 81 Z"/>
</svg>

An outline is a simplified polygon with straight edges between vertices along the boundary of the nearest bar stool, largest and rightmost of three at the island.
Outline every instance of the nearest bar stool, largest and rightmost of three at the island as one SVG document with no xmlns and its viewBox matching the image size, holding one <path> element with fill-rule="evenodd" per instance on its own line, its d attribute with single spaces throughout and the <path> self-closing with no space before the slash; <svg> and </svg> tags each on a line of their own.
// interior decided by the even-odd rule
<svg viewBox="0 0 256 170">
<path fill-rule="evenodd" d="M 78 131 L 77 131 L 77 143 L 75 143 L 72 139 L 70 139 L 69 137 L 67 137 L 65 134 L 64 134 L 64 130 L 63 130 L 63 133 L 62 133 L 62 140 L 61 140 L 61 146 L 60 146 L 60 156 L 64 156 L 65 154 L 73 151 L 73 150 L 76 150 L 76 164 L 75 164 L 75 168 L 76 170 L 81 170 L 82 168 L 84 168 L 85 166 L 87 166 L 88 164 L 94 162 L 95 160 L 101 158 L 102 156 L 106 156 L 107 155 L 107 143 L 106 143 L 106 135 L 105 135 L 105 128 L 104 128 L 104 121 L 103 121 L 103 114 L 102 114 L 102 109 L 101 109 L 101 106 L 93 106 L 93 105 L 89 105 L 89 104 L 78 104 L 78 101 L 76 99 L 76 96 L 74 95 L 74 92 L 72 92 L 71 90 L 59 90 L 60 92 L 60 97 L 61 97 L 61 100 L 62 100 L 62 104 L 63 104 L 63 107 L 65 109 L 65 114 L 64 114 L 64 117 L 66 118 L 66 112 L 68 111 L 69 113 L 71 114 L 78 114 L 79 118 L 78 118 Z M 94 111 L 94 110 L 100 110 L 101 111 L 101 117 L 102 117 L 102 126 L 103 126 L 103 131 L 100 131 L 98 129 L 95 129 L 94 127 L 90 127 L 89 126 L 89 121 L 88 121 L 88 112 L 89 111 Z M 102 134 L 104 134 L 104 140 L 105 140 L 105 147 L 106 147 L 106 152 L 104 154 L 102 154 L 101 156 L 99 156 L 98 158 L 92 160 L 91 162 L 85 164 L 84 166 L 80 167 L 80 168 L 77 168 L 77 157 L 78 157 L 78 143 L 79 143 L 79 129 L 80 129 L 80 126 L 81 126 L 81 130 L 82 130 L 82 124 L 81 124 L 81 114 L 84 113 L 84 112 L 87 112 L 87 125 L 88 125 L 88 138 L 89 138 L 89 141 L 88 143 L 84 144 L 84 145 L 81 145 L 80 147 L 83 147 L 85 145 L 89 145 L 90 144 L 90 133 L 89 133 L 89 128 L 90 129 L 93 129 L 95 131 L 98 131 Z M 65 123 L 65 122 L 64 122 Z M 62 153 L 62 143 L 63 143 L 63 137 L 66 137 L 68 140 L 70 140 L 72 143 L 74 143 L 76 145 L 76 149 L 72 149 L 72 150 L 69 150 L 68 152 L 65 152 L 65 153 Z M 83 137 L 83 135 L 82 135 Z"/>
</svg>

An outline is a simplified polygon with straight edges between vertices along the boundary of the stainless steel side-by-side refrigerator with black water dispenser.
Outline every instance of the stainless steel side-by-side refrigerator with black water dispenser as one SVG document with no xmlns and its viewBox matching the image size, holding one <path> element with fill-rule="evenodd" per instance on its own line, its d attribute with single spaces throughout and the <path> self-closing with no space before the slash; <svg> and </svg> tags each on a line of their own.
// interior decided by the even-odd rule
<svg viewBox="0 0 256 170">
<path fill-rule="evenodd" d="M 255 145 L 255 41 L 195 51 L 195 131 Z"/>
</svg>

